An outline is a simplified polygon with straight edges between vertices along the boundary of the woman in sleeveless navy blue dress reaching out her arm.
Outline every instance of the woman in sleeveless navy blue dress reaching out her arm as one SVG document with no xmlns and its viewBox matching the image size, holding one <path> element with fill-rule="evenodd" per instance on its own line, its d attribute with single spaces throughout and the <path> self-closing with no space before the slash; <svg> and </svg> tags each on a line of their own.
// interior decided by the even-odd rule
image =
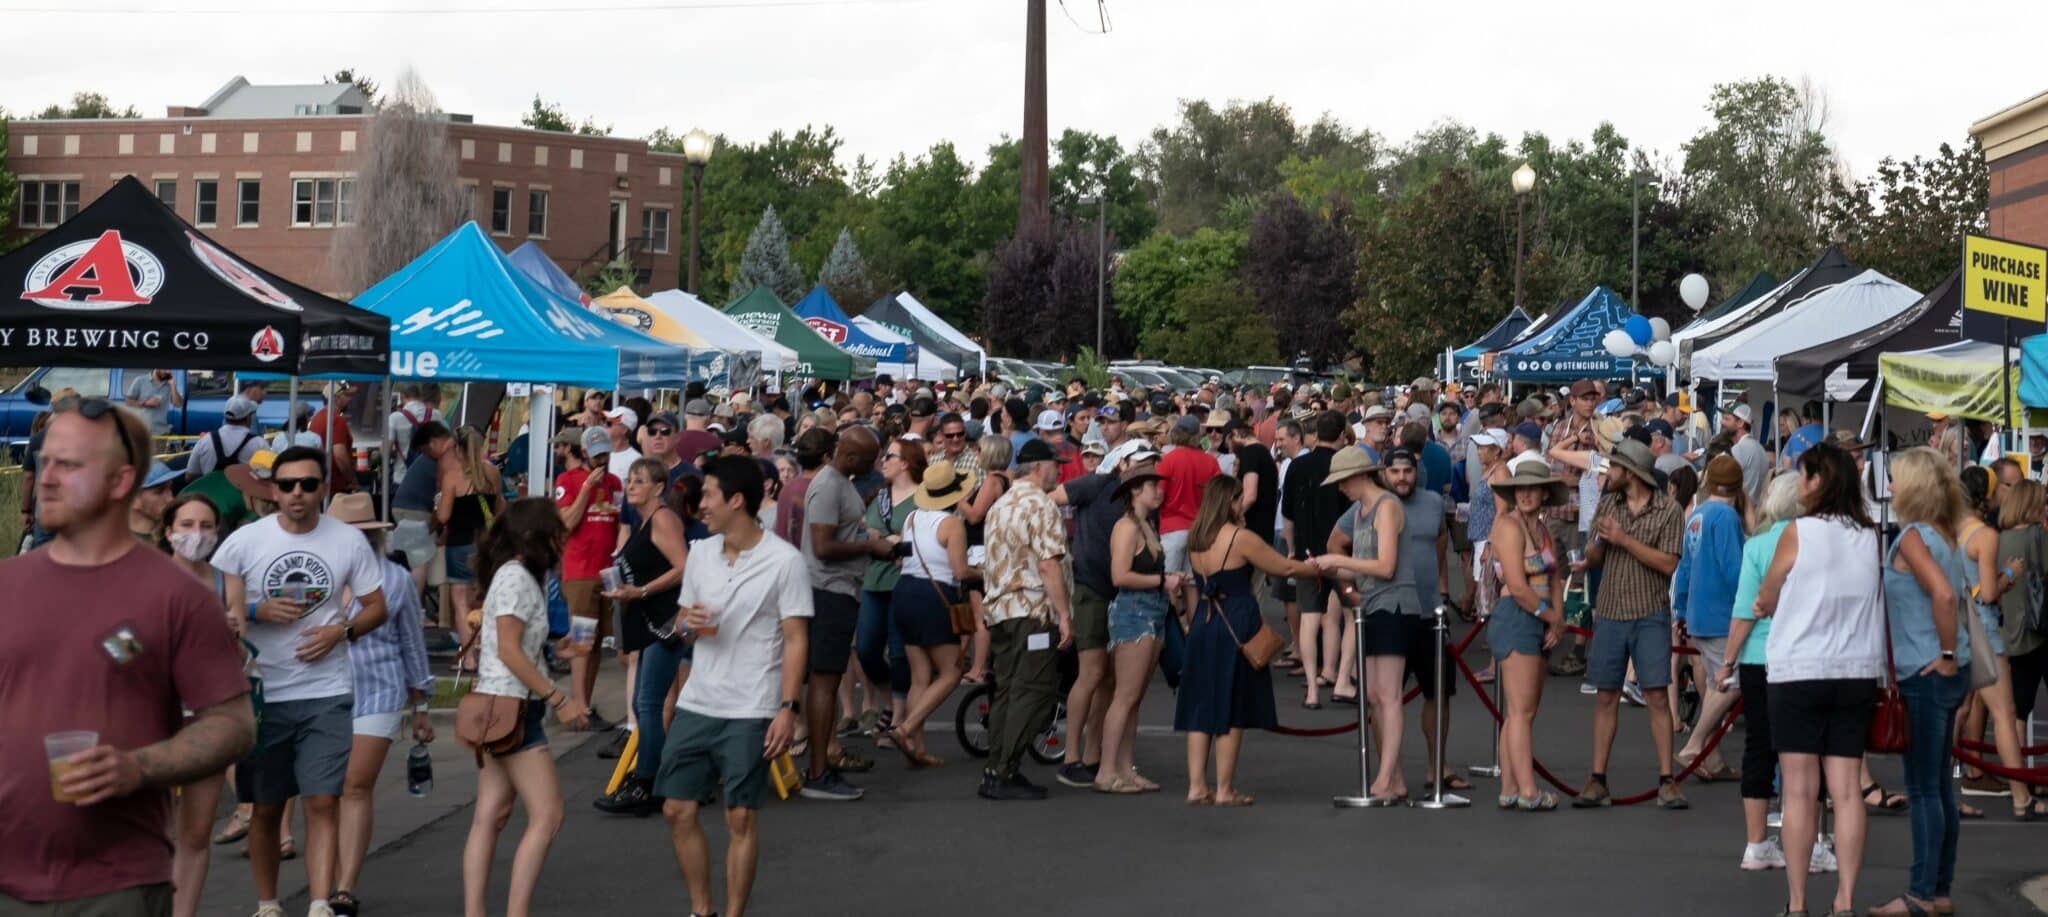
<svg viewBox="0 0 2048 917">
<path fill-rule="evenodd" d="M 1174 729 L 1188 733 L 1188 804 L 1249 806 L 1237 792 L 1237 751 L 1245 729 L 1272 729 L 1274 684 L 1266 669 L 1253 669 L 1239 649 L 1266 626 L 1251 569 L 1270 577 L 1315 577 L 1311 563 L 1288 561 L 1266 538 L 1245 528 L 1237 504 L 1235 477 L 1217 475 L 1202 487 L 1202 506 L 1188 530 L 1188 565 L 1194 567 L 1196 602 L 1188 622 L 1186 661 Z M 1217 751 L 1217 786 L 1208 786 L 1208 751 Z"/>
</svg>

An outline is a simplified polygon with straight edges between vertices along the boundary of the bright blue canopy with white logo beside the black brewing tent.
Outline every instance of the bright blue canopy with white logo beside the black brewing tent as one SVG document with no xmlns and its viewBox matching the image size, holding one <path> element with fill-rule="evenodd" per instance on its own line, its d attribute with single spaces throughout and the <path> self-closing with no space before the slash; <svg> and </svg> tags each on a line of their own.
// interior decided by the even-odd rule
<svg viewBox="0 0 2048 917">
<path fill-rule="evenodd" d="M 590 315 L 514 268 L 475 221 L 354 303 L 391 319 L 399 379 L 680 389 L 723 356 Z"/>
</svg>

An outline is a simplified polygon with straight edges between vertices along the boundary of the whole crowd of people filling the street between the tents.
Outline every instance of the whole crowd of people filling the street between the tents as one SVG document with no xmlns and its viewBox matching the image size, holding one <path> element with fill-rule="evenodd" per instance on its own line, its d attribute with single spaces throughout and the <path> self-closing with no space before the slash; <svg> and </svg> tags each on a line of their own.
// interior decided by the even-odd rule
<svg viewBox="0 0 2048 917">
<path fill-rule="evenodd" d="M 1876 463 L 1819 411 L 1710 418 L 1686 393 L 1599 381 L 1511 401 L 1432 379 L 1167 393 L 881 377 L 760 397 L 692 387 L 680 411 L 594 391 L 557 418 L 551 495 L 516 497 L 539 446 L 522 432 L 492 454 L 424 385 L 381 418 L 395 456 L 381 518 L 356 442 L 313 416 L 268 444 L 260 395 L 229 399 L 182 471 L 150 456 L 145 411 L 170 393 L 129 393 L 143 413 L 59 393 L 39 422 L 47 544 L 0 563 L 0 594 L 25 612 L 0 639 L 0 684 L 41 700 L 4 692 L 0 706 L 20 735 L 96 735 L 43 761 L 8 745 L 0 802 L 43 831 L 0 856 L 0 911 L 190 915 L 211 845 L 236 841 L 258 917 L 283 915 L 289 858 L 309 915 L 362 909 L 389 747 L 436 739 L 426 608 L 461 643 L 459 678 L 473 673 L 455 727 L 479 768 L 469 915 L 489 909 L 514 804 L 526 821 L 504 911 L 530 909 L 567 817 L 549 729 L 610 733 L 604 755 L 633 757 L 596 809 L 668 821 L 694 915 L 745 911 L 776 759 L 797 761 L 803 798 L 829 802 L 864 796 L 864 747 L 944 768 L 928 723 L 963 682 L 991 690 L 987 800 L 1049 796 L 1020 766 L 1061 708 L 1057 782 L 1161 792 L 1137 743 L 1159 673 L 1190 806 L 1255 802 L 1239 755 L 1247 731 L 1278 727 L 1282 688 L 1309 710 L 1370 710 L 1368 792 L 1395 802 L 1413 792 L 1415 684 L 1421 792 L 1470 790 L 1436 759 L 1456 694 L 1432 678 L 1438 608 L 1483 628 L 1481 682 L 1503 702 L 1499 809 L 1616 804 L 1608 761 L 1622 704 L 1638 704 L 1655 804 L 1688 809 L 1688 772 L 1741 784 L 1741 868 L 1784 868 L 1788 915 L 1810 913 L 1815 872 L 1839 874 L 1825 913 L 1855 913 L 1868 813 L 1905 815 L 1913 835 L 1909 886 L 1870 913 L 1950 913 L 1958 819 L 1982 817 L 1956 798 L 1950 745 L 1989 733 L 1999 766 L 2021 768 L 2048 669 L 2044 487 L 2013 458 L 1970 465 L 1982 430 L 1948 418 L 1931 446 Z M 629 698 L 616 723 L 596 700 L 606 657 Z M 1563 800 L 1536 774 L 1550 678 L 1595 698 L 1591 776 Z M 1866 757 L 1890 686 L 1907 710 L 1903 794 Z M 1739 770 L 1714 745 L 1735 704 Z M 223 774 L 240 806 L 215 831 Z M 2048 815 L 2023 780 L 1972 770 L 1962 788 L 2009 796 L 2015 819 Z M 729 833 L 723 899 L 711 804 Z"/>
</svg>

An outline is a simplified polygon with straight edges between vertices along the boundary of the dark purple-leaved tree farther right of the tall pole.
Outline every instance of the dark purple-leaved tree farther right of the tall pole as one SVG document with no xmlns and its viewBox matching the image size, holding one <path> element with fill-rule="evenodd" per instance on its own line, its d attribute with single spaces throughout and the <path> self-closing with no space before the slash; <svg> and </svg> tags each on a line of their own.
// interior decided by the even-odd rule
<svg viewBox="0 0 2048 917">
<path fill-rule="evenodd" d="M 1346 229 L 1341 199 L 1313 215 L 1294 194 L 1274 192 L 1251 221 L 1241 268 L 1262 323 L 1278 348 L 1309 354 L 1317 364 L 1343 356 L 1348 342 L 1337 315 L 1352 305 L 1358 250 Z M 1212 303 L 1210 303 L 1212 305 Z"/>
</svg>

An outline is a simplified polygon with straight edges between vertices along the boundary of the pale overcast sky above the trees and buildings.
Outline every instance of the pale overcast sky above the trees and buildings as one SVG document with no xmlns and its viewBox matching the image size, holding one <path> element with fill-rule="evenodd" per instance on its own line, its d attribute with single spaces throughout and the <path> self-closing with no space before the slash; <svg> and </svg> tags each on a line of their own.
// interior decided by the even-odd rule
<svg viewBox="0 0 2048 917">
<path fill-rule="evenodd" d="M 618 10 L 655 4 L 664 8 Z M 1442 119 L 1507 137 L 1585 137 L 1614 121 L 1675 160 L 1706 121 L 1712 84 L 1782 74 L 1827 92 L 1829 135 L 1868 174 L 1884 156 L 1960 143 L 1972 121 L 2048 90 L 2038 37 L 2019 37 L 2044 20 L 2040 0 L 1106 4 L 1108 35 L 1094 33 L 1094 0 L 1067 0 L 1079 27 L 1051 4 L 1053 135 L 1077 127 L 1128 147 L 1171 121 L 1180 98 L 1274 96 L 1300 121 L 1327 111 L 1393 139 Z M 401 6 L 475 10 L 389 12 Z M 952 139 L 979 164 L 987 143 L 1022 127 L 1022 0 L 477 6 L 0 0 L 0 35 L 10 35 L 0 106 L 18 115 L 92 88 L 162 117 L 236 74 L 317 82 L 348 66 L 389 82 L 412 66 L 446 111 L 481 123 L 516 125 L 537 92 L 621 135 L 668 125 L 760 139 L 829 123 L 848 162 Z"/>
</svg>

